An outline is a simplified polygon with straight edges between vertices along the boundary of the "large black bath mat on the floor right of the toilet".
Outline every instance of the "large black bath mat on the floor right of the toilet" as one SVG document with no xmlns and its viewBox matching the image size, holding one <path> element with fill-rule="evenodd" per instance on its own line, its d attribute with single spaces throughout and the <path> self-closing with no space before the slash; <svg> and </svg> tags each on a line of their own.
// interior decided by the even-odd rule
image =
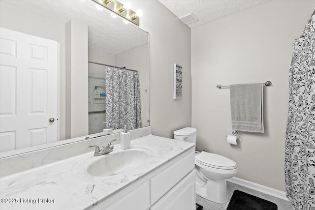
<svg viewBox="0 0 315 210">
<path fill-rule="evenodd" d="M 235 190 L 226 210 L 278 210 L 276 204 Z"/>
</svg>

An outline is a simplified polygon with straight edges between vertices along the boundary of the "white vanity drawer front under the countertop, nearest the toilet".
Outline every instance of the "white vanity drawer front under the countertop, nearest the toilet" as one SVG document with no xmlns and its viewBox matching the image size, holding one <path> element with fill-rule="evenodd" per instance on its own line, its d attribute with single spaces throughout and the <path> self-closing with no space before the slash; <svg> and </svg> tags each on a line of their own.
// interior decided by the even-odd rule
<svg viewBox="0 0 315 210">
<path fill-rule="evenodd" d="M 153 205 L 194 168 L 194 150 L 150 179 L 150 204 Z"/>
</svg>

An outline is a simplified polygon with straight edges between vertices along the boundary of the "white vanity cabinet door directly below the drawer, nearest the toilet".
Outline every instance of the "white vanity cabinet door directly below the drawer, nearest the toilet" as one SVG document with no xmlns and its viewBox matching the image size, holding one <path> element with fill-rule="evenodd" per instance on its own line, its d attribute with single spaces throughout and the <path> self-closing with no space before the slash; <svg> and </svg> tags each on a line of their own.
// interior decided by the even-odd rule
<svg viewBox="0 0 315 210">
<path fill-rule="evenodd" d="M 195 210 L 195 207 L 195 170 L 193 170 L 150 210 Z"/>
</svg>

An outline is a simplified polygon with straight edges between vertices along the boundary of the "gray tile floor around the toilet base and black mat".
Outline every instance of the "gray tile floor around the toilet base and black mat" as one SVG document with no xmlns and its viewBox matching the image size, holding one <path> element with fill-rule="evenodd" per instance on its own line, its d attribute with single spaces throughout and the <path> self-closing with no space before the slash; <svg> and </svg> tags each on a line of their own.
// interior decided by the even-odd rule
<svg viewBox="0 0 315 210">
<path fill-rule="evenodd" d="M 238 184 L 234 184 L 231 183 L 229 181 L 226 182 L 227 185 L 227 194 L 228 194 L 228 202 L 225 204 L 217 204 L 211 201 L 208 201 L 198 195 L 196 195 L 196 203 L 200 204 L 201 206 L 203 206 L 203 210 L 226 210 L 228 203 L 233 195 L 234 190 L 240 190 L 243 192 L 246 192 L 248 194 L 257 196 L 259 198 L 265 199 L 267 201 L 271 201 L 275 204 L 277 204 L 278 206 L 278 210 L 294 210 L 292 209 L 292 205 L 289 201 L 285 201 L 283 199 L 271 196 L 271 195 L 267 195 L 265 193 L 256 191 L 256 190 L 252 190 L 250 188 L 247 187 L 243 187 L 241 185 Z"/>
</svg>

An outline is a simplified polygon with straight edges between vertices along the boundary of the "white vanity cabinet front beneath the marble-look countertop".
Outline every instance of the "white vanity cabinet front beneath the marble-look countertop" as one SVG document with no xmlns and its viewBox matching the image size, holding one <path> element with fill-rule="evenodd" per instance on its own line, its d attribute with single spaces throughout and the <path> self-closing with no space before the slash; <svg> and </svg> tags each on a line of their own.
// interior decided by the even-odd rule
<svg viewBox="0 0 315 210">
<path fill-rule="evenodd" d="M 122 189 L 93 210 L 194 210 L 194 148 Z"/>
</svg>

